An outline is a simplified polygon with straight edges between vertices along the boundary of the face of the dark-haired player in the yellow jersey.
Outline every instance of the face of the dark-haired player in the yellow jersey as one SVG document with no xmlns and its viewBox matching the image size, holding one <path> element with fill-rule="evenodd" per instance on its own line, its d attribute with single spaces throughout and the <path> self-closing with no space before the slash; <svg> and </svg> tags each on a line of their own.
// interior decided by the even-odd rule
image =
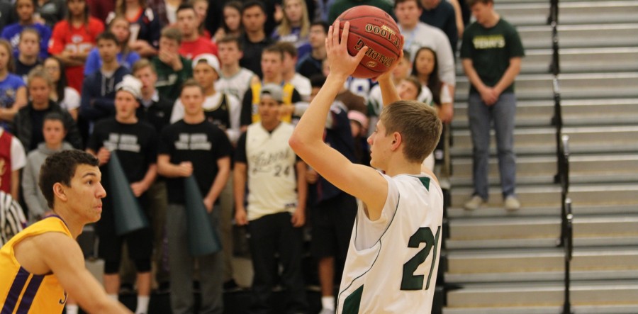
<svg viewBox="0 0 638 314">
<path fill-rule="evenodd" d="M 71 178 L 71 184 L 62 184 L 67 204 L 84 223 L 95 223 L 102 214 L 102 198 L 106 191 L 100 183 L 100 169 L 88 164 L 79 164 Z"/>
</svg>

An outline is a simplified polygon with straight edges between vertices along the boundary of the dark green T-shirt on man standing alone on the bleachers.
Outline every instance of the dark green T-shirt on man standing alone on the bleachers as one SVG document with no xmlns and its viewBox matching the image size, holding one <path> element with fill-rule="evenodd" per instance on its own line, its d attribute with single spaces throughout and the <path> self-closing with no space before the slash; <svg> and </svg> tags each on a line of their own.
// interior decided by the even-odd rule
<svg viewBox="0 0 638 314">
<path fill-rule="evenodd" d="M 513 57 L 525 57 L 516 28 L 500 18 L 492 28 L 471 23 L 463 32 L 461 59 L 471 59 L 478 77 L 486 86 L 495 86 Z M 503 91 L 514 92 L 514 83 Z M 474 85 L 470 93 L 478 93 Z"/>
</svg>

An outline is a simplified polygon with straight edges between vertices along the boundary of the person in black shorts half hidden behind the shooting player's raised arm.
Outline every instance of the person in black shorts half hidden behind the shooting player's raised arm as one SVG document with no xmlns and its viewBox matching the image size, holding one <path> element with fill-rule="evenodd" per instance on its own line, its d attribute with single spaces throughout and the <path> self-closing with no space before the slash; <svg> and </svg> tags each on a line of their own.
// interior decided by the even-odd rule
<svg viewBox="0 0 638 314">
<path fill-rule="evenodd" d="M 314 94 L 318 94 L 323 84 L 325 77 L 315 79 Z M 332 149 L 350 162 L 357 162 L 348 110 L 341 101 L 334 101 L 330 106 L 323 134 L 324 142 Z M 310 252 L 318 261 L 321 287 L 320 313 L 334 313 L 334 279 L 341 278 L 339 271 L 345 264 L 352 225 L 357 215 L 357 200 L 332 185 L 314 169 L 306 170 L 306 179 L 310 184 L 310 221 L 313 225 Z"/>
</svg>

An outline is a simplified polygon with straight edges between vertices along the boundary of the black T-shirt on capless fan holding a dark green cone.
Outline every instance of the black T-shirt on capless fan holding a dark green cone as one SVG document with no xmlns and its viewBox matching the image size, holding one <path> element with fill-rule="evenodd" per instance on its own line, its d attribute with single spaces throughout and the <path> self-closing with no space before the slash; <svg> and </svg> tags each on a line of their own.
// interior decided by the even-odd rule
<svg viewBox="0 0 638 314">
<path fill-rule="evenodd" d="M 230 157 L 228 136 L 208 121 L 188 124 L 184 120 L 162 130 L 159 154 L 169 155 L 172 164 L 191 162 L 199 191 L 206 196 L 219 171 L 217 160 Z M 184 179 L 167 179 L 169 203 L 184 203 Z"/>
</svg>

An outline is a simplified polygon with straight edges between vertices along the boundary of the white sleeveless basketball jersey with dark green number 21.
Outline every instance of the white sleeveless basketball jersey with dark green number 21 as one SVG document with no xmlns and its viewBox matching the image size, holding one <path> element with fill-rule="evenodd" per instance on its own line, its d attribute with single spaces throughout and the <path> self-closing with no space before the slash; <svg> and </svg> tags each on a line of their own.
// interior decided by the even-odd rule
<svg viewBox="0 0 638 314">
<path fill-rule="evenodd" d="M 369 220 L 359 202 L 337 313 L 430 313 L 441 250 L 441 188 L 425 174 L 383 176 L 388 198 L 381 218 Z"/>
</svg>

